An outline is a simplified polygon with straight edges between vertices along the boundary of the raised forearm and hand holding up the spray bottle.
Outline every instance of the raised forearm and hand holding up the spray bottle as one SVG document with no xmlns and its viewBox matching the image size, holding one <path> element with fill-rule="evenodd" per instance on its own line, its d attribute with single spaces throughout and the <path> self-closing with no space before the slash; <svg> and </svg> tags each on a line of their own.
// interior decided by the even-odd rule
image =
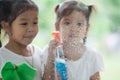
<svg viewBox="0 0 120 80">
<path fill-rule="evenodd" d="M 42 80 L 55 80 L 55 73 L 54 73 L 54 62 L 55 62 L 55 54 L 56 54 L 56 47 L 58 46 L 58 41 L 51 40 L 48 48 L 48 59 L 46 63 L 46 67 L 43 74 Z"/>
</svg>

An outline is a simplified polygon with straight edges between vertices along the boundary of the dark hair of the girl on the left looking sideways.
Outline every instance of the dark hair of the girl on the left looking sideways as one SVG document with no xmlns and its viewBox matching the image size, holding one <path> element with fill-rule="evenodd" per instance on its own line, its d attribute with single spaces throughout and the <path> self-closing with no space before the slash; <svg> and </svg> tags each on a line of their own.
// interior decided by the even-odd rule
<svg viewBox="0 0 120 80">
<path fill-rule="evenodd" d="M 38 7 L 32 0 L 0 0 L 0 35 L 2 21 L 8 22 L 11 26 L 16 17 L 27 10 L 38 11 Z"/>
</svg>

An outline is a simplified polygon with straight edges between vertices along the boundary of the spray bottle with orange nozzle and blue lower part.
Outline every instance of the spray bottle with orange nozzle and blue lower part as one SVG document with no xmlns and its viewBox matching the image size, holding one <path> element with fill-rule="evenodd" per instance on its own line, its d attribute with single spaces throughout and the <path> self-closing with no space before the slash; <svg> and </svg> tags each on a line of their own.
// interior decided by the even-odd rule
<svg viewBox="0 0 120 80">
<path fill-rule="evenodd" d="M 52 32 L 52 36 L 60 41 L 60 34 L 59 31 L 54 31 Z M 64 53 L 63 53 L 63 49 L 61 47 L 61 45 L 59 45 L 56 48 L 56 58 L 55 58 L 55 80 L 59 80 L 57 77 L 57 72 L 60 76 L 61 80 L 68 80 L 68 76 L 67 76 L 67 67 L 66 67 L 66 62 L 65 62 L 65 58 L 64 58 Z"/>
</svg>

